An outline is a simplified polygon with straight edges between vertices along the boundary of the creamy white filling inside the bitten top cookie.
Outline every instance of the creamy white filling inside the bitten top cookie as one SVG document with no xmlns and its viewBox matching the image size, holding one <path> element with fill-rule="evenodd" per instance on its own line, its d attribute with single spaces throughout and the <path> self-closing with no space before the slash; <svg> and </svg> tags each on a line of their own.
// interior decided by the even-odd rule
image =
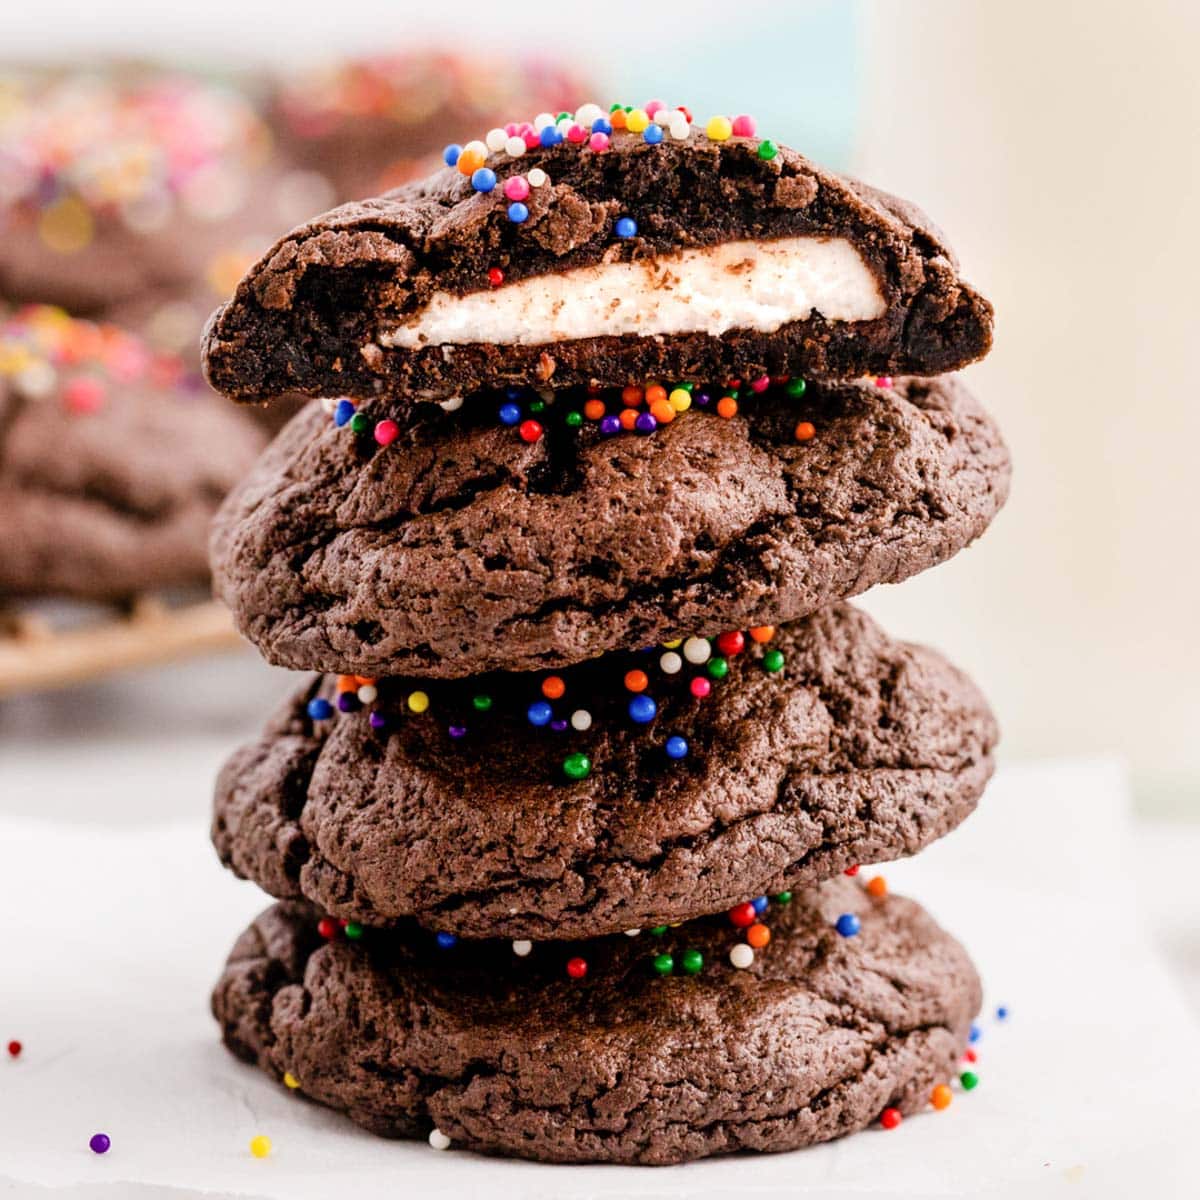
<svg viewBox="0 0 1200 1200">
<path fill-rule="evenodd" d="M 416 349 L 492 342 L 540 346 L 580 337 L 774 332 L 820 313 L 871 320 L 887 305 L 845 238 L 728 241 L 634 263 L 577 266 L 492 292 L 438 292 L 384 346 Z"/>
</svg>

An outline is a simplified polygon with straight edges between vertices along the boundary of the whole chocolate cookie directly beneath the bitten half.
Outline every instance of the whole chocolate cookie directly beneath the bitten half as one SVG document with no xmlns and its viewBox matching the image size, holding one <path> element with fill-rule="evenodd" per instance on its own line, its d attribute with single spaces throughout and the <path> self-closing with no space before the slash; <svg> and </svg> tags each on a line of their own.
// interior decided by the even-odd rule
<svg viewBox="0 0 1200 1200">
<path fill-rule="evenodd" d="M 534 670 L 804 616 L 949 558 L 1003 503 L 1007 450 L 958 380 L 797 384 L 680 389 L 662 425 L 642 391 L 406 426 L 313 408 L 221 511 L 217 588 L 283 666 Z"/>
</svg>

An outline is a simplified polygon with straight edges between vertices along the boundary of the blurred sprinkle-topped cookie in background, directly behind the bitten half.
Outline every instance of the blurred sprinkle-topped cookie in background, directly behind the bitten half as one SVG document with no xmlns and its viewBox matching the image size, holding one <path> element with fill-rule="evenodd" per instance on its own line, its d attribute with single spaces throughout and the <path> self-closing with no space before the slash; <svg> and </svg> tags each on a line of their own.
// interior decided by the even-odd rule
<svg viewBox="0 0 1200 1200">
<path fill-rule="evenodd" d="M 580 90 L 569 72 L 535 60 L 404 50 L 289 71 L 265 113 L 282 152 L 352 200 L 427 174 L 448 142 L 481 124 L 558 112 Z"/>
</svg>

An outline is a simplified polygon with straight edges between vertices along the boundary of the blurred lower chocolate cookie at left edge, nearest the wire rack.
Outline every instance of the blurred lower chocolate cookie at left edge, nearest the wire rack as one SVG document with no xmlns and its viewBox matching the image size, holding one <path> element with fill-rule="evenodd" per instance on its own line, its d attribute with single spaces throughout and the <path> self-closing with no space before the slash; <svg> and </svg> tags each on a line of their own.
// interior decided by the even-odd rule
<svg viewBox="0 0 1200 1200">
<path fill-rule="evenodd" d="M 113 325 L 46 306 L 0 323 L 0 595 L 203 582 L 212 514 L 262 444 Z"/>
</svg>

